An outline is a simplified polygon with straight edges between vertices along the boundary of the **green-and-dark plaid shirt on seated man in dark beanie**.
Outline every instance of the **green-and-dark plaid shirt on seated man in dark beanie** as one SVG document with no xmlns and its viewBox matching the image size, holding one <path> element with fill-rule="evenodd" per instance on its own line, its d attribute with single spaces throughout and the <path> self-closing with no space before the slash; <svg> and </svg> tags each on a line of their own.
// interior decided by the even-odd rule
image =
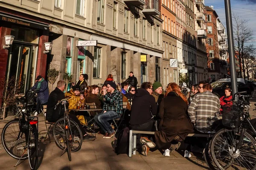
<svg viewBox="0 0 256 170">
<path fill-rule="evenodd" d="M 108 93 L 103 96 L 103 111 L 114 111 L 117 114 L 122 114 L 122 94 L 120 91 L 115 90 L 112 94 Z"/>
</svg>

